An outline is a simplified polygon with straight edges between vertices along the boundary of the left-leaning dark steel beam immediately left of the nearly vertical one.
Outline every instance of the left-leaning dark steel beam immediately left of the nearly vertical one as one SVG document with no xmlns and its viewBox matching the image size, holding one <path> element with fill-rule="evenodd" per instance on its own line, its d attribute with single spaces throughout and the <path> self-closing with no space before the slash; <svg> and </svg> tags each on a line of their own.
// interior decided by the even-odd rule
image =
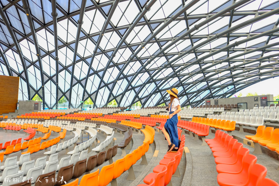
<svg viewBox="0 0 279 186">
<path fill-rule="evenodd" d="M 42 82 L 42 102 L 43 102 L 43 109 L 44 109 L 44 104 L 45 104 L 45 98 L 44 98 L 44 75 L 43 75 L 43 66 L 42 66 L 42 61 L 41 61 L 41 55 L 40 55 L 40 49 L 39 49 L 39 45 L 38 45 L 38 41 L 37 41 L 37 36 L 35 33 L 35 28 L 34 28 L 34 24 L 31 18 L 31 13 L 30 13 L 30 7 L 27 4 L 26 0 L 22 0 L 23 3 L 23 8 L 25 10 L 25 13 L 27 15 L 27 19 L 28 19 L 28 23 L 30 26 L 30 30 L 32 33 L 32 37 L 34 40 L 34 45 L 35 45 L 35 49 L 36 49 L 36 56 L 38 58 L 38 62 L 39 62 L 39 67 L 40 67 L 40 75 L 41 75 L 41 82 Z"/>
</svg>

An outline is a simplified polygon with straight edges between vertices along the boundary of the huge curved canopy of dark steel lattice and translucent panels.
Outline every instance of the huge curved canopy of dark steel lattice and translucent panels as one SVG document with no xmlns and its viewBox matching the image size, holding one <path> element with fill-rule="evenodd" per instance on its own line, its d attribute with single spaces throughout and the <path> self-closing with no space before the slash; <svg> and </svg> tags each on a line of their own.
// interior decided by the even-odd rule
<svg viewBox="0 0 279 186">
<path fill-rule="evenodd" d="M 279 76 L 279 1 L 0 0 L 0 74 L 19 100 L 95 107 L 231 96 Z"/>
</svg>

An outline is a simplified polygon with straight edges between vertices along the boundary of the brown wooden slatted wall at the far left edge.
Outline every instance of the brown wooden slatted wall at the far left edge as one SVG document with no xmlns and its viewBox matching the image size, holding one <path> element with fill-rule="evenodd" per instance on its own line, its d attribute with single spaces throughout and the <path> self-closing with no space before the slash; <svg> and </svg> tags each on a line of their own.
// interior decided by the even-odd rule
<svg viewBox="0 0 279 186">
<path fill-rule="evenodd" d="M 19 77 L 0 75 L 0 114 L 17 109 Z"/>
</svg>

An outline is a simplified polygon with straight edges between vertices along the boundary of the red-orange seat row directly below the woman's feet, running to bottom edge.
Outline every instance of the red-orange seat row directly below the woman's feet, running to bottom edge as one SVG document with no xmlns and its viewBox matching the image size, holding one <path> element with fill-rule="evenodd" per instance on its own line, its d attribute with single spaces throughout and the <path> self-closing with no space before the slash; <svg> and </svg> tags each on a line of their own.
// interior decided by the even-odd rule
<svg viewBox="0 0 279 186">
<path fill-rule="evenodd" d="M 153 168 L 153 172 L 144 177 L 143 182 L 147 185 L 168 185 L 171 177 L 176 171 L 179 172 L 178 165 L 183 155 L 183 147 L 185 145 L 185 135 L 181 137 L 181 144 L 177 152 L 168 152 L 164 158 L 160 160 L 159 165 Z M 146 186 L 139 184 L 138 186 Z"/>
</svg>

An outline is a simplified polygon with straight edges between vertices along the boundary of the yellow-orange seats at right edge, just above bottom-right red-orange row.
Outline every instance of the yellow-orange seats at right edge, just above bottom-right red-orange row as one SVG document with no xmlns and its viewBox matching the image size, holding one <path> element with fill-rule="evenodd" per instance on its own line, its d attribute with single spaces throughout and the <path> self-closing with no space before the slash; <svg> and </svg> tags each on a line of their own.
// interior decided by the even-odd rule
<svg viewBox="0 0 279 186">
<path fill-rule="evenodd" d="M 279 128 L 259 126 L 255 135 L 246 135 L 255 146 L 254 154 L 262 154 L 260 146 L 266 146 L 271 151 L 279 151 Z M 278 153 L 279 155 L 279 153 Z"/>
</svg>

